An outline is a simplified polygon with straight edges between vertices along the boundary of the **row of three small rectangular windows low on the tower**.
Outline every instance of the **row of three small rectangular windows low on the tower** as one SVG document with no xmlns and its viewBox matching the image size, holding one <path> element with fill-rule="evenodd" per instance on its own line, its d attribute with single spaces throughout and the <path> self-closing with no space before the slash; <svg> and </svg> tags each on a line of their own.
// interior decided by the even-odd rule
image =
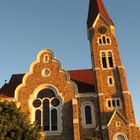
<svg viewBox="0 0 140 140">
<path fill-rule="evenodd" d="M 122 107 L 120 98 L 107 99 L 107 106 L 110 109 L 120 109 Z"/>
</svg>

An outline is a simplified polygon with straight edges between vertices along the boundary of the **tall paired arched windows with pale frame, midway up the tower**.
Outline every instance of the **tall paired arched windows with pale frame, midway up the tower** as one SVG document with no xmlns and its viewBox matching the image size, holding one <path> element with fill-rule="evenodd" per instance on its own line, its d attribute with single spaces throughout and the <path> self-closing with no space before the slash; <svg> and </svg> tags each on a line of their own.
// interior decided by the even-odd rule
<svg viewBox="0 0 140 140">
<path fill-rule="evenodd" d="M 101 61 L 102 61 L 103 68 L 113 68 L 114 67 L 113 54 L 110 50 L 101 51 Z"/>
</svg>

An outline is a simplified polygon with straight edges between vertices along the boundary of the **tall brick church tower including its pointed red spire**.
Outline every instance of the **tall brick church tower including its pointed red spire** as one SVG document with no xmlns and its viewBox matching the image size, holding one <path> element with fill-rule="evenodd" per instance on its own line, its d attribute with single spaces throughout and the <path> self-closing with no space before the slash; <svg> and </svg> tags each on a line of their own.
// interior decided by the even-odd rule
<svg viewBox="0 0 140 140">
<path fill-rule="evenodd" d="M 115 26 L 102 0 L 90 0 L 87 28 L 99 99 L 99 135 L 103 140 L 138 140 L 139 129 Z"/>
</svg>

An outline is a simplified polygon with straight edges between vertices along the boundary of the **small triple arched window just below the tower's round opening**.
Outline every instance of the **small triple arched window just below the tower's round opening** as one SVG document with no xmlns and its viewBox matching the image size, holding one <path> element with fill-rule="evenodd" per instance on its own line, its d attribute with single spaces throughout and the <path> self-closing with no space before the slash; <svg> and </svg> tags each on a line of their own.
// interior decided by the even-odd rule
<svg viewBox="0 0 140 140">
<path fill-rule="evenodd" d="M 111 44 L 111 39 L 110 39 L 109 36 L 101 35 L 100 37 L 98 37 L 97 43 L 99 45 L 110 45 Z"/>
</svg>

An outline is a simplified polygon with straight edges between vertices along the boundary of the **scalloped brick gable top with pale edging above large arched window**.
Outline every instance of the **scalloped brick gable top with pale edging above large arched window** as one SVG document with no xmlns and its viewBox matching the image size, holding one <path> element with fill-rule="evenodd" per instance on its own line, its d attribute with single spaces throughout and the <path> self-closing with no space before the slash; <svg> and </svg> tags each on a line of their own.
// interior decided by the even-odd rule
<svg viewBox="0 0 140 140">
<path fill-rule="evenodd" d="M 61 96 L 74 97 L 77 93 L 76 85 L 70 81 L 67 72 L 61 69 L 61 64 L 54 58 L 53 53 L 42 50 L 37 55 L 37 60 L 31 64 L 30 71 L 24 75 L 22 83 L 16 88 L 14 98 L 22 106 L 27 105 L 35 91 L 47 87 L 54 87 Z"/>
</svg>

